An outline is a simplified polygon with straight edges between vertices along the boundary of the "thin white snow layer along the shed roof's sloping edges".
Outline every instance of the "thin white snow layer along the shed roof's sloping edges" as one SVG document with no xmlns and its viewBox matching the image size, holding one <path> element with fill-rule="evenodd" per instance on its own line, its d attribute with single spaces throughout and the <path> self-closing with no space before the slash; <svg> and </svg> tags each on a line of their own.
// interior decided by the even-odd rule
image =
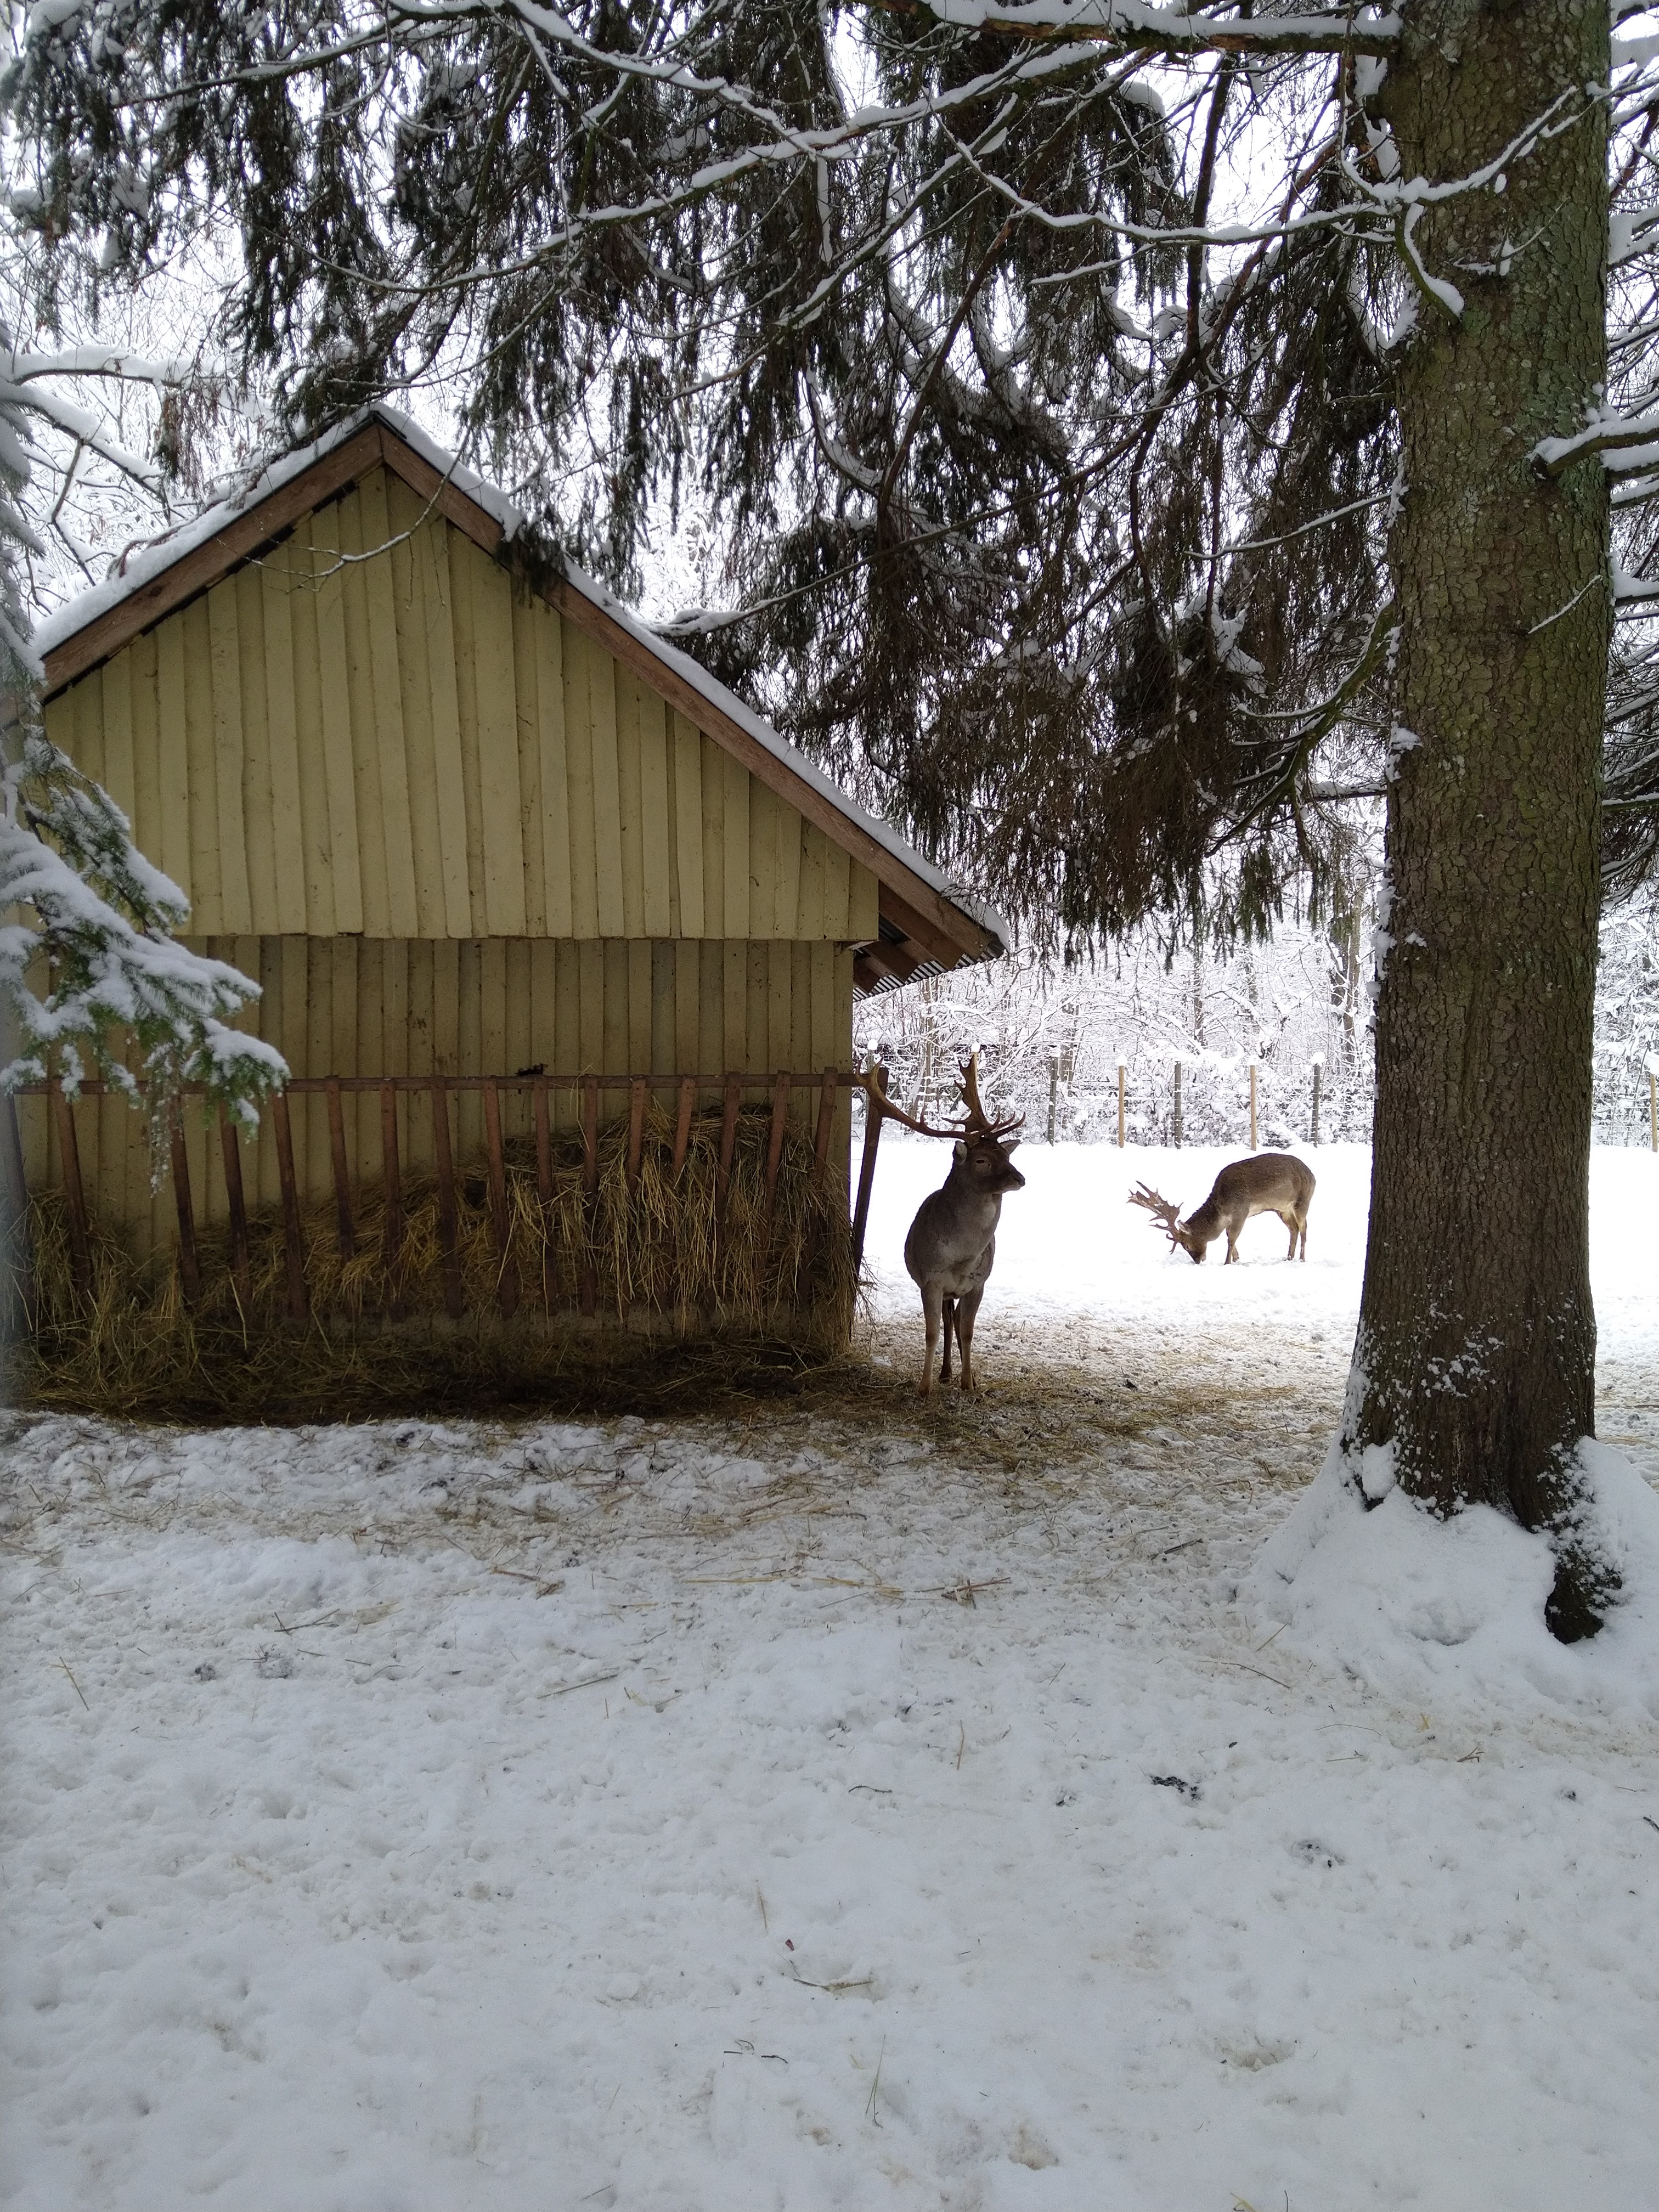
<svg viewBox="0 0 1659 2212">
<path fill-rule="evenodd" d="M 259 507 L 261 500 L 268 500 L 272 493 L 281 491 L 283 484 L 292 482 L 296 476 L 301 476 L 305 469 L 319 462 L 325 453 L 332 453 L 336 447 L 345 445 L 361 429 L 365 429 L 369 422 L 376 420 L 383 422 L 407 447 L 411 447 L 411 451 L 416 451 L 425 462 L 429 462 L 429 467 L 438 469 L 438 473 L 449 484 L 453 484 L 456 491 L 473 500 L 473 504 L 480 507 L 500 526 L 504 540 L 511 542 L 513 538 L 518 538 L 518 533 L 524 529 L 524 513 L 522 509 L 513 507 L 513 502 L 507 498 L 504 491 L 500 491 L 498 484 L 491 484 L 482 476 L 476 476 L 471 469 L 467 469 L 460 460 L 456 460 L 453 453 L 445 451 L 445 447 L 440 447 L 434 438 L 429 438 L 418 427 L 418 422 L 411 422 L 409 416 L 405 416 L 400 409 L 385 405 L 385 400 L 376 400 L 372 407 L 365 407 L 358 414 L 347 416 L 343 422 L 336 422 L 334 429 L 323 431 L 323 436 L 314 438 L 310 445 L 296 447 L 292 453 L 283 453 L 279 460 L 259 465 L 257 471 L 243 478 L 237 491 L 232 491 L 223 500 L 217 500 L 212 507 L 204 507 L 204 511 L 192 522 L 181 524 L 177 531 L 168 531 L 164 538 L 150 540 L 146 546 L 139 546 L 133 553 L 124 553 L 117 564 L 117 573 L 106 577 L 102 584 L 95 584 L 91 591 L 82 591 L 77 597 L 69 599 L 64 606 L 58 608 L 58 613 L 49 615 L 35 628 L 33 635 L 35 653 L 42 659 L 49 653 L 55 653 L 80 630 L 88 628 L 88 624 L 106 615 L 113 606 L 119 606 L 122 599 L 131 597 L 142 584 L 148 584 L 150 577 L 161 575 L 175 562 L 184 560 L 188 553 L 195 553 L 197 546 L 208 544 L 208 540 L 215 538 L 237 515 L 243 515 L 252 507 Z M 920 880 L 929 885 L 933 891 L 938 891 L 940 898 L 947 898 L 953 907 L 967 914 L 969 920 L 973 920 L 980 929 L 989 931 L 1000 947 L 1004 949 L 1009 947 L 1013 931 L 1009 929 L 1009 922 L 995 907 L 978 898 L 973 891 L 967 891 L 962 885 L 951 883 L 951 878 L 945 876 L 942 869 L 933 867 L 931 860 L 925 860 L 922 854 L 918 854 L 914 845 L 909 845 L 902 836 L 898 836 L 898 832 L 889 823 L 880 821 L 880 816 L 876 814 L 867 814 L 854 799 L 849 799 L 841 790 L 841 785 L 832 776 L 825 776 L 825 772 L 814 761 L 810 761 L 805 752 L 801 752 L 785 737 L 781 737 L 779 730 L 774 730 L 772 723 L 765 721 L 765 717 L 757 714 L 754 708 L 745 706 L 734 690 L 728 690 L 726 684 L 717 681 L 688 653 L 681 653 L 677 646 L 670 646 L 664 637 L 659 637 L 657 630 L 650 628 L 650 624 L 641 622 L 630 608 L 626 608 L 619 599 L 615 599 L 604 588 L 604 584 L 595 582 L 591 575 L 577 568 L 575 562 L 568 560 L 564 562 L 564 577 L 575 591 L 582 593 L 584 599 L 588 599 L 604 615 L 608 615 L 611 622 L 615 622 L 619 628 L 637 637 L 648 653 L 653 653 L 659 661 L 672 668 L 686 684 L 690 684 L 697 692 L 701 692 L 710 706 L 721 710 L 721 714 L 739 723 L 757 741 L 757 745 L 763 745 L 776 761 L 783 761 L 792 770 L 792 774 L 801 776 L 803 783 L 810 783 L 816 792 L 821 792 L 841 814 L 847 816 L 847 821 L 856 823 L 885 852 L 889 852 L 896 860 L 900 860 L 914 876 L 920 876 Z"/>
</svg>

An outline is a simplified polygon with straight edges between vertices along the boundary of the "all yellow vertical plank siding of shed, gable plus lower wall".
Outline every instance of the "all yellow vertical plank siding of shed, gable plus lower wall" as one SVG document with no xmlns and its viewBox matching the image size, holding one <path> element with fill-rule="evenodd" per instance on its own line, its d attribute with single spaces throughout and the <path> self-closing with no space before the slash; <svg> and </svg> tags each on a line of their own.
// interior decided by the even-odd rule
<svg viewBox="0 0 1659 2212">
<path fill-rule="evenodd" d="M 542 1062 L 659 1075 L 672 1113 L 679 1071 L 847 1064 L 876 878 L 385 469 L 51 699 L 46 728 L 186 891 L 192 942 L 259 978 L 248 1026 L 294 1075 Z M 575 1126 L 580 1102 L 549 1106 Z M 405 1172 L 431 1170 L 427 1102 L 396 1113 Z M 507 1093 L 504 1135 L 531 1113 Z M 380 1099 L 343 1115 L 372 1181 Z M 847 1119 L 843 1099 L 841 1155 Z M 301 1201 L 332 1201 L 325 1099 L 290 1121 Z M 55 1186 L 42 1099 L 20 1126 L 31 1186 Z M 97 1219 L 170 1250 L 137 1117 L 88 1099 L 75 1128 Z M 456 1135 L 482 1155 L 480 1097 Z M 248 1206 L 276 1206 L 270 1117 L 239 1141 Z M 199 1115 L 186 1161 L 197 1221 L 223 1221 Z"/>
</svg>

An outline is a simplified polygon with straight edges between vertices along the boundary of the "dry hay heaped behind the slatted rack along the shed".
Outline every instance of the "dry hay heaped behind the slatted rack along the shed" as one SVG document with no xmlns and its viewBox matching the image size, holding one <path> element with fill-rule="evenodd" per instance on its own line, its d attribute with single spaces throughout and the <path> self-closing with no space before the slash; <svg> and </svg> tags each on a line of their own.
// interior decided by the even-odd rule
<svg viewBox="0 0 1659 2212">
<path fill-rule="evenodd" d="M 307 1321 L 288 1312 L 279 1210 L 250 1217 L 241 1281 L 228 1228 L 197 1232 L 201 1294 L 188 1303 L 177 1263 L 133 1261 L 97 1223 L 91 1296 L 82 1294 L 62 1199 L 33 1199 L 27 1239 L 13 1239 L 7 1261 L 4 1307 L 13 1329 L 18 1316 L 24 1323 L 11 1345 L 11 1396 L 102 1413 L 323 1420 L 392 1407 L 668 1407 L 790 1385 L 845 1352 L 856 1281 L 838 1177 L 816 1170 L 799 1124 L 785 1124 L 768 1221 L 770 1126 L 765 1108 L 737 1119 L 723 1223 L 719 1115 L 692 1121 L 675 1179 L 672 1128 L 648 1108 L 633 1190 L 628 1124 L 606 1124 L 593 1197 L 582 1139 L 555 1137 L 546 1206 L 533 1148 L 509 1144 L 507 1261 L 482 1164 L 458 1172 L 460 1321 L 447 1316 L 429 1177 L 405 1177 L 392 1270 L 378 1186 L 352 1192 L 349 1252 L 332 1201 L 303 1212 Z M 509 1321 L 504 1272 L 518 1292 Z M 584 1276 L 595 1321 L 577 1312 Z"/>
</svg>

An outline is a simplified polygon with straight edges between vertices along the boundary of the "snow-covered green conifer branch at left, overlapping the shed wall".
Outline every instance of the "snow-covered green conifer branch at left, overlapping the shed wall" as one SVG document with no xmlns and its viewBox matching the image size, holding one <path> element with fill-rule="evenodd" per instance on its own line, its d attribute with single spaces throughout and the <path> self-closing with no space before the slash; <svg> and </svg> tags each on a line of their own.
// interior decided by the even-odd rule
<svg viewBox="0 0 1659 2212">
<path fill-rule="evenodd" d="M 0 1020 L 13 1057 L 0 1091 L 55 1073 L 75 1093 L 100 1075 L 135 1099 L 144 1077 L 155 1119 L 181 1084 L 206 1084 L 210 1104 L 257 1121 L 288 1066 L 228 1022 L 259 984 L 177 942 L 188 902 L 106 792 L 42 730 L 13 743 L 0 785 Z"/>
</svg>

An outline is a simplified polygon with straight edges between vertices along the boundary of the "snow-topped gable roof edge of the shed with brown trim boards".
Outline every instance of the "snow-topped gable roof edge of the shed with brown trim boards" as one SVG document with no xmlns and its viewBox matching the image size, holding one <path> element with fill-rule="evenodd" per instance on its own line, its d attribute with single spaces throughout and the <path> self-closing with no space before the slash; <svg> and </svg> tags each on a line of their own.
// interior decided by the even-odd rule
<svg viewBox="0 0 1659 2212">
<path fill-rule="evenodd" d="M 35 633 L 46 697 L 177 613 L 376 467 L 392 469 L 493 560 L 509 555 L 524 524 L 511 500 L 462 469 L 396 409 L 376 405 L 314 445 L 270 462 L 243 493 L 124 557 L 117 575 L 51 615 Z M 993 907 L 951 885 L 737 692 L 646 628 L 602 584 L 566 564 L 562 575 L 538 588 L 562 617 L 630 666 L 757 781 L 869 869 L 878 883 L 880 936 L 854 960 L 860 991 L 889 989 L 1004 951 L 1009 925 Z"/>
</svg>

